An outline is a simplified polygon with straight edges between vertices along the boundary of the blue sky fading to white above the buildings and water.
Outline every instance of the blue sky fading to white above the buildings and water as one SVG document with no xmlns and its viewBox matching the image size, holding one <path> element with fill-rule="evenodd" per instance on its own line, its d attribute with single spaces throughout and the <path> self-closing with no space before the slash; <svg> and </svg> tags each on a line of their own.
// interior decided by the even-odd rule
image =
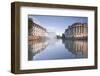
<svg viewBox="0 0 100 76">
<path fill-rule="evenodd" d="M 55 32 L 57 35 L 62 35 L 65 29 L 73 23 L 88 23 L 87 17 L 29 15 L 28 18 L 32 18 L 35 23 L 46 28 L 48 32 Z"/>
</svg>

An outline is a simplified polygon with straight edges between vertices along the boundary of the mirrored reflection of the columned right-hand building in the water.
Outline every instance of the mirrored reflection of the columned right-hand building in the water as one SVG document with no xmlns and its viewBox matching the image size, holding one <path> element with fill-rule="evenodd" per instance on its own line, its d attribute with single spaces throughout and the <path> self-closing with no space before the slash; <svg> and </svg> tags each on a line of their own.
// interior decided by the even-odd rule
<svg viewBox="0 0 100 76">
<path fill-rule="evenodd" d="M 88 43 L 87 40 L 62 40 L 65 48 L 80 58 L 88 57 Z"/>
</svg>

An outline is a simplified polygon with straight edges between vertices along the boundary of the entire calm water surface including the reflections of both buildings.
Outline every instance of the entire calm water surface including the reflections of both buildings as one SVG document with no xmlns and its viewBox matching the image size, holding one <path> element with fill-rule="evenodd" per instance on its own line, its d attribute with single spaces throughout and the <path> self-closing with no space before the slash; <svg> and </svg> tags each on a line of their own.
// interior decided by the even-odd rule
<svg viewBox="0 0 100 76">
<path fill-rule="evenodd" d="M 87 57 L 87 40 L 35 40 L 29 41 L 28 45 L 28 60 L 76 59 Z"/>
</svg>

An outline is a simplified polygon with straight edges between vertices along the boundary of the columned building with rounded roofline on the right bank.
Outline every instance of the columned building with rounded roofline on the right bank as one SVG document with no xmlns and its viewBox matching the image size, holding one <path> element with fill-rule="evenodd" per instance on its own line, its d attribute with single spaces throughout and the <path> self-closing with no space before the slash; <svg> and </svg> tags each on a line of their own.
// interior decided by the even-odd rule
<svg viewBox="0 0 100 76">
<path fill-rule="evenodd" d="M 87 39 L 88 26 L 86 23 L 74 23 L 64 32 L 66 39 Z"/>
</svg>

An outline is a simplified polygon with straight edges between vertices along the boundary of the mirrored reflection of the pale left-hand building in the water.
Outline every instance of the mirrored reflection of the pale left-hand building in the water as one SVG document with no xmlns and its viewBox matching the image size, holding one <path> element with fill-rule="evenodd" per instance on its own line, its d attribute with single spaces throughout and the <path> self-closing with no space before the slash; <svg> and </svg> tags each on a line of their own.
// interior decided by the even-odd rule
<svg viewBox="0 0 100 76">
<path fill-rule="evenodd" d="M 46 40 L 35 40 L 28 42 L 28 60 L 33 60 L 33 56 L 43 51 L 47 46 Z"/>
</svg>

